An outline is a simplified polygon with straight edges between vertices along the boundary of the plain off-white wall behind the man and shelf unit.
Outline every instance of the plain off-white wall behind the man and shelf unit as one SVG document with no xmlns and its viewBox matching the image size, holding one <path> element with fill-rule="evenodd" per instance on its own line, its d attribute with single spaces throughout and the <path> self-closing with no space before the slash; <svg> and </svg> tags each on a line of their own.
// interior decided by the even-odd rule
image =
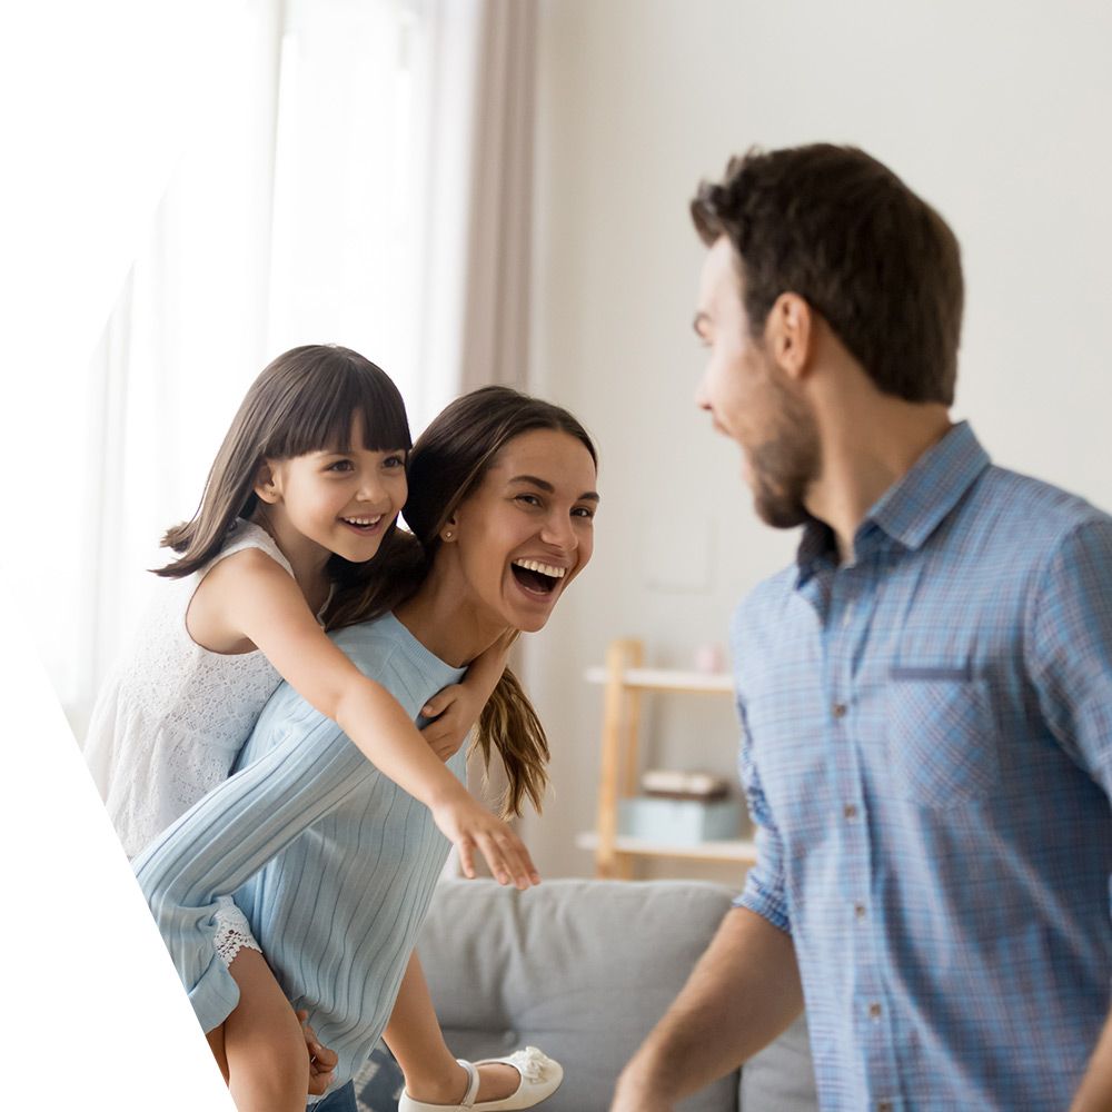
<svg viewBox="0 0 1112 1112">
<path fill-rule="evenodd" d="M 594 565 L 527 673 L 556 795 L 526 835 L 560 875 L 590 871 L 572 847 L 595 806 L 600 695 L 584 667 L 618 635 L 688 663 L 794 550 L 755 520 L 736 450 L 692 405 L 703 251 L 686 206 L 728 155 L 856 143 L 939 208 L 965 260 L 959 415 L 999 463 L 1112 508 L 1112 8 L 539 2 L 533 388 L 597 437 L 603 494 Z M 678 698 L 651 752 L 732 770 L 732 713 Z"/>
</svg>

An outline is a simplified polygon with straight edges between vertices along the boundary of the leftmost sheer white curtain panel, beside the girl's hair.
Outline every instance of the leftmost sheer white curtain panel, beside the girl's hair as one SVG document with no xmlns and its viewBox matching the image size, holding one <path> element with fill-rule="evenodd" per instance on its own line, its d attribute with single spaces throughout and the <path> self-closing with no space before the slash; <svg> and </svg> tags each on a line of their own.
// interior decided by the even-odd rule
<svg viewBox="0 0 1112 1112">
<path fill-rule="evenodd" d="M 91 365 L 67 390 L 73 544 L 44 549 L 32 575 L 34 632 L 79 736 L 153 583 L 143 569 L 163 559 L 158 539 L 192 513 L 262 366 L 280 21 L 272 2 L 229 4 L 197 56 L 181 155 Z"/>
</svg>

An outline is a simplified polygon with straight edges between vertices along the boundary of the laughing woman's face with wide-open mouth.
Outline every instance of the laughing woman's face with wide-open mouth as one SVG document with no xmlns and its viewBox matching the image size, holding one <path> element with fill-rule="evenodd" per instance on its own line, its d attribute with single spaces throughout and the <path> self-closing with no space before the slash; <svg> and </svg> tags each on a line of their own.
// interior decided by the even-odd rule
<svg viewBox="0 0 1112 1112">
<path fill-rule="evenodd" d="M 596 469 L 576 437 L 535 429 L 510 440 L 440 530 L 484 625 L 533 633 L 594 547 Z"/>
</svg>

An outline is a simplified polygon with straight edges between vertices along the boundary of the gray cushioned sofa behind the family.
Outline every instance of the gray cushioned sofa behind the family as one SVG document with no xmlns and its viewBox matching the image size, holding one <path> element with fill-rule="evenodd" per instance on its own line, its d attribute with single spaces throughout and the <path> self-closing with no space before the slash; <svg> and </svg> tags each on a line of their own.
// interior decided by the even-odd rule
<svg viewBox="0 0 1112 1112">
<path fill-rule="evenodd" d="M 419 952 L 460 1058 L 534 1044 L 563 1062 L 545 1112 L 606 1112 L 618 1071 L 675 999 L 729 892 L 695 881 L 445 881 Z M 684 1112 L 817 1109 L 801 1019 Z"/>
</svg>

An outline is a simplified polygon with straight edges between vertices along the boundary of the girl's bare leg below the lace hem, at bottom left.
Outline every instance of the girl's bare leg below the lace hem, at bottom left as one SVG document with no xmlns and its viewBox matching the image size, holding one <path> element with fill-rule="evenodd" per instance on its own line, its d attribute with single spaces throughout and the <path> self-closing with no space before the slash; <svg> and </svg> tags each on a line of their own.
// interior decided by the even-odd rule
<svg viewBox="0 0 1112 1112">
<path fill-rule="evenodd" d="M 309 1053 L 294 1009 L 257 950 L 244 947 L 228 969 L 239 985 L 239 1003 L 224 1022 L 228 1089 L 236 1108 L 305 1112 Z"/>
</svg>

